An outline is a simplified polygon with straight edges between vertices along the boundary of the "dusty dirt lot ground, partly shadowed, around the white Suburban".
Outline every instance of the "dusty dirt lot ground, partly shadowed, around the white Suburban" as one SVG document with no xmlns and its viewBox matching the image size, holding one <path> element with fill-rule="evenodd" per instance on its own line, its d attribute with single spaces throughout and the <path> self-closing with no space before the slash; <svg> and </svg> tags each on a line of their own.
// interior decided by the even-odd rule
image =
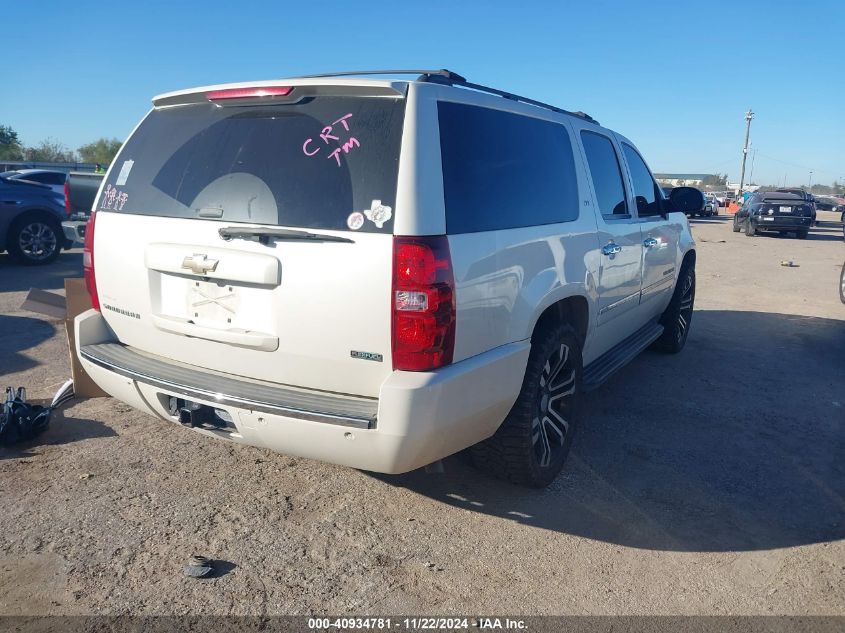
<svg viewBox="0 0 845 633">
<path fill-rule="evenodd" d="M 845 614 L 845 248 L 819 218 L 806 241 L 694 221 L 687 348 L 590 394 L 542 492 L 459 458 L 375 476 L 79 402 L 0 450 L 0 614 Z M 0 255 L 3 385 L 46 398 L 69 376 L 61 322 L 19 306 L 80 271 L 78 252 Z M 185 578 L 193 553 L 223 575 Z"/>
</svg>

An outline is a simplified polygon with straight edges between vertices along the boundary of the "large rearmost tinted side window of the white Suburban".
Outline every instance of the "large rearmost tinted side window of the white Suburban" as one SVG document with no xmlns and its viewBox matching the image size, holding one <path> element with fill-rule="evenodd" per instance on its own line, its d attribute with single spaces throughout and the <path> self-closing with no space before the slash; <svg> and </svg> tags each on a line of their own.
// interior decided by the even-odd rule
<svg viewBox="0 0 845 633">
<path fill-rule="evenodd" d="M 449 233 L 578 217 L 572 144 L 562 125 L 459 103 L 439 103 L 438 114 Z"/>
</svg>

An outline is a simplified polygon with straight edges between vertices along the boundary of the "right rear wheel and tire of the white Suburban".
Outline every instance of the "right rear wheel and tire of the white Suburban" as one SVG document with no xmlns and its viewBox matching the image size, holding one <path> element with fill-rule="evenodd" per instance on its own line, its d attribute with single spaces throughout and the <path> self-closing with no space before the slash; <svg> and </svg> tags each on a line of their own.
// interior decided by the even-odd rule
<svg viewBox="0 0 845 633">
<path fill-rule="evenodd" d="M 581 343 L 557 325 L 531 343 L 522 389 L 496 433 L 470 448 L 477 468 L 543 488 L 563 468 L 581 408 Z"/>
</svg>

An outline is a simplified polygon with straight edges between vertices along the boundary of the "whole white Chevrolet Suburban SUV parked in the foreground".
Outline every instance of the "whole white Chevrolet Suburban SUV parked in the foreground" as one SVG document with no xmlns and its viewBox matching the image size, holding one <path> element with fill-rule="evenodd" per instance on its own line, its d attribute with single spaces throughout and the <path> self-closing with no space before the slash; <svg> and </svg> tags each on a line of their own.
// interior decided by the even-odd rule
<svg viewBox="0 0 845 633">
<path fill-rule="evenodd" d="M 664 199 L 585 114 L 414 72 L 156 97 L 85 236 L 96 383 L 291 455 L 400 473 L 472 447 L 549 483 L 582 393 L 683 347 L 703 197 Z"/>
</svg>

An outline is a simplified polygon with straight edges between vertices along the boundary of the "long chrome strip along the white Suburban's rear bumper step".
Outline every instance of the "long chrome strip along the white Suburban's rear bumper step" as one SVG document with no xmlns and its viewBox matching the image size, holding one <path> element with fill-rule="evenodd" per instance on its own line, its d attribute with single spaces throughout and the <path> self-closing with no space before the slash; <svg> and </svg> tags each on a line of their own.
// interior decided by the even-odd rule
<svg viewBox="0 0 845 633">
<path fill-rule="evenodd" d="M 186 385 L 180 382 L 153 376 L 142 370 L 126 367 L 103 358 L 102 356 L 93 355 L 92 353 L 86 351 L 85 347 L 80 349 L 79 353 L 82 358 L 98 365 L 99 367 L 119 374 L 125 378 L 137 380 L 145 385 L 163 389 L 169 395 L 179 395 L 198 400 L 209 400 L 217 404 L 249 409 L 251 411 L 260 411 L 262 413 L 283 415 L 285 417 L 295 418 L 298 420 L 334 424 L 337 426 L 351 427 L 355 429 L 374 429 L 376 426 L 375 412 L 373 412 L 372 416 L 356 416 L 326 413 L 322 411 L 308 411 L 279 403 L 210 391 L 208 389 L 203 389 L 202 387 Z"/>
</svg>

